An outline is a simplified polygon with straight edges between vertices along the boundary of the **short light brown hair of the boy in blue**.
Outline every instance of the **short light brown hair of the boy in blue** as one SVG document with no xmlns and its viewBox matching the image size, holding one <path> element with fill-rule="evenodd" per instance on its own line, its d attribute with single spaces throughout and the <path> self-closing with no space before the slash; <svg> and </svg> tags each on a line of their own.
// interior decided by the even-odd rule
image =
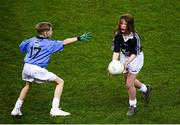
<svg viewBox="0 0 180 125">
<path fill-rule="evenodd" d="M 49 22 L 40 22 L 35 26 L 35 29 L 38 32 L 38 34 L 42 34 L 44 32 L 50 31 L 51 28 L 52 28 L 52 24 Z"/>
</svg>

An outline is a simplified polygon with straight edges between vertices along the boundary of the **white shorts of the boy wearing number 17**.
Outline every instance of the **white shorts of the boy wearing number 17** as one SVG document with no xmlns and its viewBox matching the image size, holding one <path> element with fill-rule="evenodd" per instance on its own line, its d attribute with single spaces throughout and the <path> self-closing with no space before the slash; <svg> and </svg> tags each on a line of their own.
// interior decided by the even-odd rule
<svg viewBox="0 0 180 125">
<path fill-rule="evenodd" d="M 57 76 L 45 68 L 25 63 L 22 71 L 22 79 L 28 82 L 44 83 L 54 81 Z"/>
</svg>

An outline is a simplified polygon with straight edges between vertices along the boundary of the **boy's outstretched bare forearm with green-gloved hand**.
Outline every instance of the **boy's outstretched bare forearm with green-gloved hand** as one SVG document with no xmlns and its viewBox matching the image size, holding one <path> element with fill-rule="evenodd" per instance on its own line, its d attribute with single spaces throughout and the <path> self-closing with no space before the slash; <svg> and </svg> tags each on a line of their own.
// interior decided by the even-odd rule
<svg viewBox="0 0 180 125">
<path fill-rule="evenodd" d="M 63 41 L 64 45 L 68 45 L 71 43 L 74 43 L 76 41 L 89 41 L 92 38 L 92 34 L 90 32 L 84 33 L 78 37 L 73 37 L 73 38 L 67 38 Z"/>
</svg>

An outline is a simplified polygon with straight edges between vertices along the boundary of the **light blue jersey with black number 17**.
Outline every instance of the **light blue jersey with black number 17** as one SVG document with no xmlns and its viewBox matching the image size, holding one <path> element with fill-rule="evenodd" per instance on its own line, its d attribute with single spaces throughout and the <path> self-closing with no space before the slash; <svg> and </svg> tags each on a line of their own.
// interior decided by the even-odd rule
<svg viewBox="0 0 180 125">
<path fill-rule="evenodd" d="M 25 63 L 47 67 L 52 53 L 64 50 L 63 41 L 32 37 L 19 45 L 21 52 L 27 52 Z"/>
</svg>

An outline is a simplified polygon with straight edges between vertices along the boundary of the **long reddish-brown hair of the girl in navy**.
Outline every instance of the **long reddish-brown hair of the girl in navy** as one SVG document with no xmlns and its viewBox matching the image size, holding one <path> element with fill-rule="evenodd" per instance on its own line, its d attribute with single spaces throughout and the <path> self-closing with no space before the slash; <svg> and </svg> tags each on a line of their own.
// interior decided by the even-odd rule
<svg viewBox="0 0 180 125">
<path fill-rule="evenodd" d="M 120 24 L 121 24 L 121 20 L 124 19 L 127 22 L 127 32 L 128 33 L 135 33 L 135 29 L 134 29 L 134 18 L 130 15 L 130 14 L 124 14 L 120 17 L 118 24 L 116 26 L 115 32 L 121 33 L 120 31 Z"/>
</svg>

